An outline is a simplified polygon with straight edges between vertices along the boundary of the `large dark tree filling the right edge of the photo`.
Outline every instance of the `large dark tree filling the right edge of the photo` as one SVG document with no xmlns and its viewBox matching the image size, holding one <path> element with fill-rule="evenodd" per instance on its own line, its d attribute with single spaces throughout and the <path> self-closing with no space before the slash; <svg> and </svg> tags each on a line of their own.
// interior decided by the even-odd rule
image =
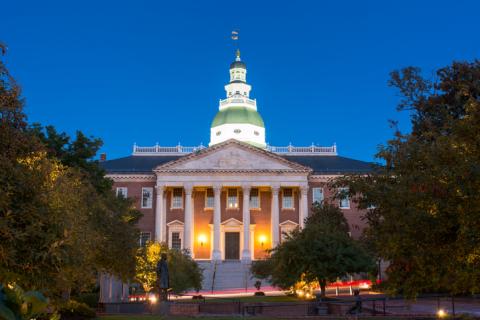
<svg viewBox="0 0 480 320">
<path fill-rule="evenodd" d="M 390 267 L 389 289 L 480 291 L 480 61 L 454 62 L 425 79 L 418 68 L 391 74 L 412 132 L 381 146 L 384 165 L 348 185 L 368 208 L 367 235 Z M 373 207 L 372 207 L 373 205 Z"/>
</svg>

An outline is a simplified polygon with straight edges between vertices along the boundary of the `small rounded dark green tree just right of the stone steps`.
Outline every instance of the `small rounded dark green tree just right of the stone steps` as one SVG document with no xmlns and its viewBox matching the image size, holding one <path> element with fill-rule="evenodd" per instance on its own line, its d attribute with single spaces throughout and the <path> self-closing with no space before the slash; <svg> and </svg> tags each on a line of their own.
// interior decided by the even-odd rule
<svg viewBox="0 0 480 320">
<path fill-rule="evenodd" d="M 348 235 L 345 223 L 337 207 L 328 203 L 315 206 L 305 228 L 286 235 L 269 258 L 254 262 L 252 273 L 270 278 L 281 288 L 299 281 L 318 282 L 324 297 L 328 282 L 373 266 L 370 256 Z"/>
</svg>

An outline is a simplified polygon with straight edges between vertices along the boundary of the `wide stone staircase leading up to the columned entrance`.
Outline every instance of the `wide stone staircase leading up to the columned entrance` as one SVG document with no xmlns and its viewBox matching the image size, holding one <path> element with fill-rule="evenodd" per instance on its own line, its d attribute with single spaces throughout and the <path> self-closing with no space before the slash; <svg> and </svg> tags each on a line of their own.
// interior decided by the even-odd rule
<svg viewBox="0 0 480 320">
<path fill-rule="evenodd" d="M 203 269 L 202 291 L 225 291 L 254 289 L 254 283 L 258 279 L 252 278 L 250 264 L 240 261 L 202 261 L 199 262 Z M 215 275 L 214 275 L 215 274 Z M 268 285 L 262 280 L 262 286 Z"/>
</svg>

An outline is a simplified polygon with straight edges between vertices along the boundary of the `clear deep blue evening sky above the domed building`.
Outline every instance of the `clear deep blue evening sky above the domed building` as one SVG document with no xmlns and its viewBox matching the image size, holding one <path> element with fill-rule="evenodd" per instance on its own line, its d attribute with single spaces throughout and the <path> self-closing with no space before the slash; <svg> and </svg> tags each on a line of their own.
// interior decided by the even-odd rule
<svg viewBox="0 0 480 320">
<path fill-rule="evenodd" d="M 398 113 L 389 72 L 478 58 L 478 1 L 5 1 L 0 41 L 32 122 L 139 145 L 208 144 L 240 30 L 272 145 L 373 160 Z"/>
</svg>

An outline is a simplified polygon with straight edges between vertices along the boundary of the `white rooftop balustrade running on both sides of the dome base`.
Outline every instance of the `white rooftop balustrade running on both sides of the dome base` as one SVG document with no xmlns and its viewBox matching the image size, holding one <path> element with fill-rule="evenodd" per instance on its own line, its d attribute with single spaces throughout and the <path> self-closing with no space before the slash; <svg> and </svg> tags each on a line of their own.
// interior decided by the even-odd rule
<svg viewBox="0 0 480 320">
<path fill-rule="evenodd" d="M 197 152 L 205 149 L 206 147 L 203 144 L 200 144 L 197 147 L 185 147 L 180 144 L 174 147 L 162 147 L 158 144 L 152 147 L 140 147 L 136 144 L 133 145 L 133 155 L 185 155 L 192 152 Z M 282 155 L 325 155 L 325 156 L 336 156 L 337 155 L 337 145 L 334 144 L 331 147 L 320 147 L 312 144 L 309 147 L 295 147 L 293 145 L 288 145 L 285 147 L 275 147 L 267 145 L 266 150 Z"/>
</svg>

